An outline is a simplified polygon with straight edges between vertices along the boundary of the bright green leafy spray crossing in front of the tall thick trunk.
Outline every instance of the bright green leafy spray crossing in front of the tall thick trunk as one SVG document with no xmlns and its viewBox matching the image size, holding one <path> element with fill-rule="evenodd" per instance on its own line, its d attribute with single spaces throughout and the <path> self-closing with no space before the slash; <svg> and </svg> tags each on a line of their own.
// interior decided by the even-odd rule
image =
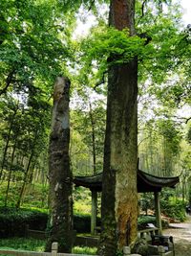
<svg viewBox="0 0 191 256">
<path fill-rule="evenodd" d="M 109 66 L 141 58 L 144 43 L 145 39 L 138 35 L 130 36 L 128 30 L 118 31 L 114 27 L 102 24 L 80 42 L 80 75 L 86 77 L 86 81 L 96 84 Z"/>
</svg>

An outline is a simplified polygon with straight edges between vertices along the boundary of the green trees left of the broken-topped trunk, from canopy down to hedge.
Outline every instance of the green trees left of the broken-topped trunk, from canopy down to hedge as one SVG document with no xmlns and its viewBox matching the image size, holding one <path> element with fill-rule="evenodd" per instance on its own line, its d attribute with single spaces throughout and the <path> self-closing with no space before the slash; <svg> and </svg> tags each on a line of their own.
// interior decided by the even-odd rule
<svg viewBox="0 0 191 256">
<path fill-rule="evenodd" d="M 8 179 L 5 204 L 11 180 L 23 180 L 15 198 L 19 207 L 26 183 L 47 169 L 46 161 L 42 167 L 42 159 L 47 155 L 53 80 L 61 72 L 60 61 L 70 52 L 64 44 L 68 29 L 60 24 L 61 15 L 53 1 L 1 3 L 1 178 Z M 65 33 L 59 35 L 63 27 Z M 45 181 L 46 175 L 42 176 Z"/>
</svg>

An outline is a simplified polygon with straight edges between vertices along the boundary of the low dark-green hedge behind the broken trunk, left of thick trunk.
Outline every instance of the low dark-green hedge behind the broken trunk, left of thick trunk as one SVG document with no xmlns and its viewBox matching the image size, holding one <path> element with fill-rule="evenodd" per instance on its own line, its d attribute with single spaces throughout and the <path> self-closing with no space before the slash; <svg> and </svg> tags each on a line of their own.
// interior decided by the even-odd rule
<svg viewBox="0 0 191 256">
<path fill-rule="evenodd" d="M 0 237 L 24 237 L 26 225 L 35 230 L 51 230 L 47 228 L 48 214 L 32 209 L 16 209 L 0 207 Z M 100 225 L 100 218 L 97 218 Z M 91 229 L 90 215 L 74 215 L 74 230 L 77 233 L 89 233 Z"/>
</svg>

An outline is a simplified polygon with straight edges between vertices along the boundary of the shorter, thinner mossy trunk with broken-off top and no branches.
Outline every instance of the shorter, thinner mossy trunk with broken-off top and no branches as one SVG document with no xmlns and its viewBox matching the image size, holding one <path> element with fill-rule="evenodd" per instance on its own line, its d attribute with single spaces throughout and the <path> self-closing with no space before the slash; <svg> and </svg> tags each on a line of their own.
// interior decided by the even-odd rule
<svg viewBox="0 0 191 256">
<path fill-rule="evenodd" d="M 57 78 L 53 93 L 52 132 L 50 136 L 50 210 L 52 234 L 46 246 L 58 242 L 60 252 L 71 252 L 73 244 L 72 172 L 70 170 L 69 143 L 69 90 L 70 81 Z"/>
</svg>

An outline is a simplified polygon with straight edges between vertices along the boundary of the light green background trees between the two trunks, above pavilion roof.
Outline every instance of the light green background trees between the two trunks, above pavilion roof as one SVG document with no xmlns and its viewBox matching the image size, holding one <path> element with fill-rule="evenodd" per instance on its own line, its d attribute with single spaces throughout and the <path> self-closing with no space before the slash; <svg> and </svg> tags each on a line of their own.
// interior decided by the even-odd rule
<svg viewBox="0 0 191 256">
<path fill-rule="evenodd" d="M 105 104 L 98 99 L 83 103 L 72 111 L 72 165 L 74 175 L 94 175 L 102 172 Z"/>
</svg>

